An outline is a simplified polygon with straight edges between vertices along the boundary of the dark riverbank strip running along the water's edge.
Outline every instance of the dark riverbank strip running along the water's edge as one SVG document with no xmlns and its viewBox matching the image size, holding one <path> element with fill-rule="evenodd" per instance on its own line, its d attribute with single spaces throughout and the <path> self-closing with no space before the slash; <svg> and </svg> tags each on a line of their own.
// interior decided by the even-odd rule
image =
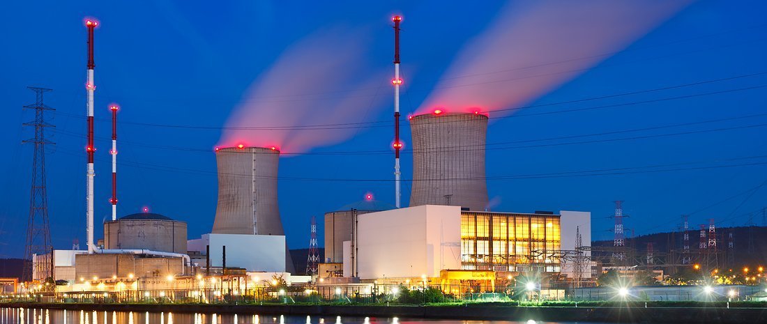
<svg viewBox="0 0 767 324">
<path fill-rule="evenodd" d="M 85 311 L 237 313 L 285 316 L 400 317 L 419 319 L 551 322 L 756 323 L 767 322 L 767 308 L 726 307 L 553 307 L 553 306 L 337 306 L 224 304 L 4 303 L 0 307 Z"/>
</svg>

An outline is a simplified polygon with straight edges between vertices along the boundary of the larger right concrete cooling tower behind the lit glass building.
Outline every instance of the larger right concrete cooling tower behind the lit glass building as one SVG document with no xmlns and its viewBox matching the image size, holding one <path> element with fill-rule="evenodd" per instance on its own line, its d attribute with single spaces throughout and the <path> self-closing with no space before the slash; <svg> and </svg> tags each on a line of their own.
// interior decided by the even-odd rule
<svg viewBox="0 0 767 324">
<path fill-rule="evenodd" d="M 413 191 L 410 206 L 453 205 L 472 211 L 488 204 L 485 144 L 488 117 L 480 113 L 412 116 Z"/>
</svg>

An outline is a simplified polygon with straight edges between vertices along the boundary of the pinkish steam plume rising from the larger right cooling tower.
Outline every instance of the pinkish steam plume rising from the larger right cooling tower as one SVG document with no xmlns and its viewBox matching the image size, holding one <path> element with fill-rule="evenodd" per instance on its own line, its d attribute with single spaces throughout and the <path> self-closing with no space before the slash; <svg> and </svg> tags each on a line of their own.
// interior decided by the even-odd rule
<svg viewBox="0 0 767 324">
<path fill-rule="evenodd" d="M 577 77 L 690 1 L 511 2 L 469 41 L 418 113 L 517 106 Z"/>
</svg>

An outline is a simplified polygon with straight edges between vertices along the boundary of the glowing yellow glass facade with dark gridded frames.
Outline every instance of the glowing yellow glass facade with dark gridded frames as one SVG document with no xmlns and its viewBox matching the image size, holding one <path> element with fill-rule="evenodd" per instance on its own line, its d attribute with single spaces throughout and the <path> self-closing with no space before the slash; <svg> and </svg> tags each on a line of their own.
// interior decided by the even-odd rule
<svg viewBox="0 0 767 324">
<path fill-rule="evenodd" d="M 463 270 L 559 272 L 556 214 L 461 212 Z"/>
</svg>

